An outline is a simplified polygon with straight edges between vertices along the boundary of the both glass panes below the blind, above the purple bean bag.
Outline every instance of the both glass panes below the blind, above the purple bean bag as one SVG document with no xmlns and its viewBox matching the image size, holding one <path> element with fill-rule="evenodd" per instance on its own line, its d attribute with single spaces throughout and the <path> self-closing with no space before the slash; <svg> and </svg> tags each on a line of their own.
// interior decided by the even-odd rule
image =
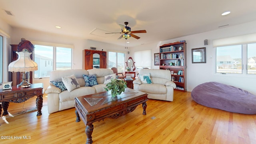
<svg viewBox="0 0 256 144">
<path fill-rule="evenodd" d="M 255 43 L 216 47 L 217 73 L 242 74 L 243 71 L 246 74 L 256 74 Z"/>
</svg>

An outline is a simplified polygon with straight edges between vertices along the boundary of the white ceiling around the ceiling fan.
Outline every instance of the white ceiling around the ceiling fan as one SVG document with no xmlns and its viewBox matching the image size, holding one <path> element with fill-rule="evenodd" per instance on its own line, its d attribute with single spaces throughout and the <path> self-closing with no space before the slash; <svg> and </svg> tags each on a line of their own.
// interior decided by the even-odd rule
<svg viewBox="0 0 256 144">
<path fill-rule="evenodd" d="M 221 16 L 225 11 L 231 13 Z M 147 31 L 128 39 L 138 46 L 254 21 L 256 0 L 0 0 L 0 18 L 12 27 L 122 46 L 121 34 L 104 33 L 121 32 L 118 24 L 129 22 Z"/>
</svg>

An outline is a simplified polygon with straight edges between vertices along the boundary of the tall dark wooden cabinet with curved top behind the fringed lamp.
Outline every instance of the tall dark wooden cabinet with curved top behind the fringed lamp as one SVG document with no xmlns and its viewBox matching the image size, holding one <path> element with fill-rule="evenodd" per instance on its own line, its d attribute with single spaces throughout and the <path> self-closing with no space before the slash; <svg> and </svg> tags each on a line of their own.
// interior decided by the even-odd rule
<svg viewBox="0 0 256 144">
<path fill-rule="evenodd" d="M 16 52 L 21 52 L 23 49 L 27 49 L 28 52 L 34 50 L 33 44 L 28 40 L 22 40 L 19 44 L 10 44 L 12 46 L 12 62 L 18 59 L 18 54 Z M 33 60 L 32 54 L 30 55 L 31 60 Z M 32 84 L 33 72 L 26 72 L 26 80 Z M 16 86 L 22 82 L 22 72 L 12 72 L 12 86 Z"/>
</svg>

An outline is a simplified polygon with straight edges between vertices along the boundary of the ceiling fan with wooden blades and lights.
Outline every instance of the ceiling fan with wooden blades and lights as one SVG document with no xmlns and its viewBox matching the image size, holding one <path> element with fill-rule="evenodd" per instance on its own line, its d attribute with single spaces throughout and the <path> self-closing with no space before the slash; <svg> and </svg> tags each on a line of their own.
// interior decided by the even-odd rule
<svg viewBox="0 0 256 144">
<path fill-rule="evenodd" d="M 119 38 L 124 38 L 124 39 L 128 39 L 130 37 L 134 37 L 136 39 L 139 39 L 140 37 L 134 35 L 134 33 L 146 33 L 146 30 L 135 30 L 135 31 L 131 31 L 131 28 L 129 26 L 127 26 L 128 22 L 124 22 L 125 26 L 122 24 L 119 24 L 119 26 L 122 28 L 122 32 L 110 32 L 110 33 L 106 33 L 106 34 L 122 34 Z"/>
</svg>

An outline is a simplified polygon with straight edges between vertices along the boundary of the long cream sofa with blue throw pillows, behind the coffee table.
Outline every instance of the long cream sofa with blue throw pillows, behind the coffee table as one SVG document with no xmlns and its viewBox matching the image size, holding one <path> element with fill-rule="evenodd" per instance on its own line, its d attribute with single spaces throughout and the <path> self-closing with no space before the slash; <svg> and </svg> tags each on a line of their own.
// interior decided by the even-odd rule
<svg viewBox="0 0 256 144">
<path fill-rule="evenodd" d="M 62 80 L 63 76 L 71 76 L 72 74 L 76 76 L 80 88 L 76 88 L 71 92 L 68 92 L 68 90 L 61 91 L 60 88 L 51 83 L 50 86 L 46 88 L 45 93 L 48 94 L 47 103 L 49 114 L 74 107 L 75 97 L 105 91 L 103 88 L 106 86 L 106 84 L 104 84 L 104 76 L 114 73 L 112 70 L 105 68 L 90 70 L 55 70 L 50 73 L 50 81 Z M 96 74 L 98 84 L 92 87 L 85 86 L 83 74 Z"/>
</svg>

